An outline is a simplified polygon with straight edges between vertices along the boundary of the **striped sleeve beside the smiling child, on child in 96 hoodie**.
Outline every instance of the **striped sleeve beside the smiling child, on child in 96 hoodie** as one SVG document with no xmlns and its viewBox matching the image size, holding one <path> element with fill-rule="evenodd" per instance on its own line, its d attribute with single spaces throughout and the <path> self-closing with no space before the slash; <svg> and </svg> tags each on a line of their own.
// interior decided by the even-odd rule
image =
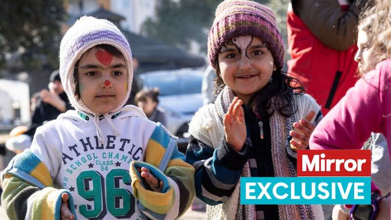
<svg viewBox="0 0 391 220">
<path fill-rule="evenodd" d="M 147 167 L 153 176 L 163 181 L 161 193 L 146 189 L 137 172 L 141 167 Z M 178 151 L 176 139 L 160 124 L 148 142 L 144 162 L 133 161 L 130 173 L 133 196 L 139 200 L 138 206 L 148 218 L 178 219 L 195 198 L 194 168 Z"/>
</svg>

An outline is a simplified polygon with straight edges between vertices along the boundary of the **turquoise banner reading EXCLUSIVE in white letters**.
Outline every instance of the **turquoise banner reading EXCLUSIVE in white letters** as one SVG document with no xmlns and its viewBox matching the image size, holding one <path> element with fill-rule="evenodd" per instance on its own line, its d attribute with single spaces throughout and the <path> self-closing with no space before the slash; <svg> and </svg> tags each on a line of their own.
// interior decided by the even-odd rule
<svg viewBox="0 0 391 220">
<path fill-rule="evenodd" d="M 241 177 L 240 204 L 370 204 L 370 177 Z"/>
</svg>

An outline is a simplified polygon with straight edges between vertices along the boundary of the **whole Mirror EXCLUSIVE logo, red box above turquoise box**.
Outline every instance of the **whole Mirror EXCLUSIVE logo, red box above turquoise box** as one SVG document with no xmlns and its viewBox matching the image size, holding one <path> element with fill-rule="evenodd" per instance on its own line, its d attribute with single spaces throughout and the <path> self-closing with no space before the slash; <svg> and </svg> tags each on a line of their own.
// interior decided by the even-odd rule
<svg viewBox="0 0 391 220">
<path fill-rule="evenodd" d="M 242 177 L 240 204 L 370 204 L 370 150 L 299 150 L 298 177 Z"/>
</svg>

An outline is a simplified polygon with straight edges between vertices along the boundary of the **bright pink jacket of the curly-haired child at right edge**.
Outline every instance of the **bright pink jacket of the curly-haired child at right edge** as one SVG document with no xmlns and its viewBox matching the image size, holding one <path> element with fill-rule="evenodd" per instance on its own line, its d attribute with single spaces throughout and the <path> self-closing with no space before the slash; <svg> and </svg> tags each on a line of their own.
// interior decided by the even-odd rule
<svg viewBox="0 0 391 220">
<path fill-rule="evenodd" d="M 391 59 L 365 74 L 319 122 L 310 149 L 361 149 L 371 132 L 382 133 L 391 154 Z"/>
</svg>

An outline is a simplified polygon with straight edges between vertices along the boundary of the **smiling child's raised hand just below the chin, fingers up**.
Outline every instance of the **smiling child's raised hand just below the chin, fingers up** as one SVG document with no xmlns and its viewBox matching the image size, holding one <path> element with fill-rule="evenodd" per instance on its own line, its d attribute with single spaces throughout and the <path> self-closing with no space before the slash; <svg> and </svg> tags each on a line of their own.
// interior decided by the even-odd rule
<svg viewBox="0 0 391 220">
<path fill-rule="evenodd" d="M 243 148 L 247 135 L 242 104 L 243 101 L 235 97 L 224 114 L 225 139 L 238 152 Z"/>
</svg>

